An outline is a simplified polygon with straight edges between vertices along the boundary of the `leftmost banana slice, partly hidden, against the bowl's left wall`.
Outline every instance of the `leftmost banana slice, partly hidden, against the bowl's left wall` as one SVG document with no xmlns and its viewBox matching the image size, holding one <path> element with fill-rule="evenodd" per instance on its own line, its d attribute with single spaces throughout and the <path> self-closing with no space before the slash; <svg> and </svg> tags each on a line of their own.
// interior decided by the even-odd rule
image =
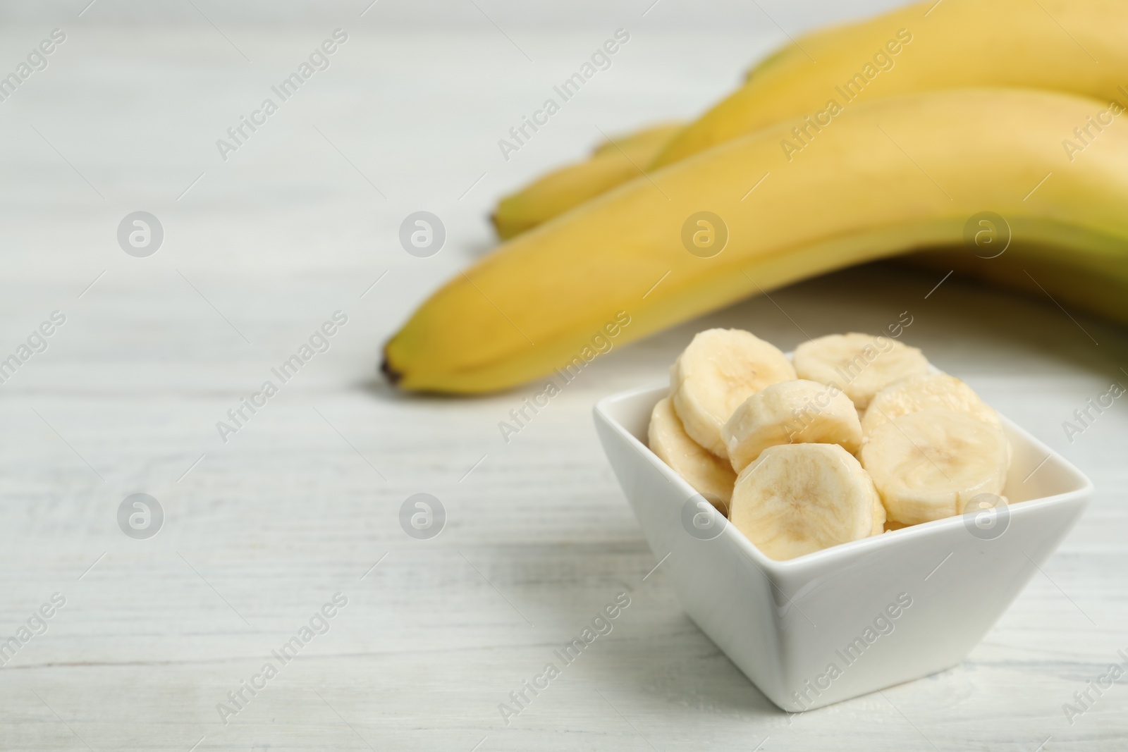
<svg viewBox="0 0 1128 752">
<path fill-rule="evenodd" d="M 686 434 L 669 397 L 660 400 L 650 415 L 649 440 L 650 451 L 728 515 L 737 474 L 728 462 L 702 449 Z"/>
</svg>

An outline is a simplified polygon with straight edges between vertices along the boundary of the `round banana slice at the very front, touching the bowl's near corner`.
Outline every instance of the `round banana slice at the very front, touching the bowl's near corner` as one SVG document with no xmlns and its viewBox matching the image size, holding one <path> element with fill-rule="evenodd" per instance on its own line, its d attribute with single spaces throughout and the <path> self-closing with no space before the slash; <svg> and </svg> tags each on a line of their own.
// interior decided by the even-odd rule
<svg viewBox="0 0 1128 752">
<path fill-rule="evenodd" d="M 737 478 L 729 520 L 783 560 L 875 536 L 885 510 L 873 480 L 838 444 L 781 444 Z"/>
</svg>

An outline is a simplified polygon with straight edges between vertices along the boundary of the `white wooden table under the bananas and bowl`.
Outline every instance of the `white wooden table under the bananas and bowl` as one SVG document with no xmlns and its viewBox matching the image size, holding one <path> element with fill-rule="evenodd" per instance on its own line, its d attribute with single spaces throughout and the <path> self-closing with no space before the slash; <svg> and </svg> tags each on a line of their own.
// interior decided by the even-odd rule
<svg viewBox="0 0 1128 752">
<path fill-rule="evenodd" d="M 752 300 L 599 359 L 505 444 L 496 424 L 531 390 L 397 395 L 374 377 L 382 340 L 491 247 L 484 218 L 502 192 L 600 130 L 696 112 L 766 41 L 640 21 L 613 68 L 506 162 L 497 139 L 614 29 L 510 41 L 385 33 L 378 18 L 221 34 L 67 17 L 0 33 L 12 67 L 53 26 L 68 34 L 0 104 L 0 357 L 52 311 L 67 317 L 0 386 L 0 639 L 65 599 L 0 667 L 0 746 L 1128 746 L 1123 680 L 1072 726 L 1061 709 L 1128 651 L 1128 406 L 1072 443 L 1061 428 L 1110 382 L 1128 384 L 1122 330 L 1075 313 L 1085 334 L 1048 300 L 954 277 L 925 299 L 934 274 L 854 269 L 779 291 L 779 308 Z M 350 38 L 329 70 L 221 161 L 215 140 L 336 26 Z M 165 231 L 148 258 L 115 237 L 139 210 Z M 396 240 L 417 210 L 448 229 L 431 258 Z M 336 310 L 349 322 L 328 352 L 222 442 L 217 422 Z M 788 718 L 694 627 L 661 568 L 643 581 L 656 560 L 590 409 L 661 373 L 706 326 L 790 348 L 796 324 L 878 330 L 905 310 L 906 340 L 1098 494 L 964 663 Z M 399 524 L 421 492 L 448 514 L 431 540 Z M 118 528 L 133 493 L 164 508 L 153 538 Z M 329 630 L 274 658 L 338 592 L 347 605 Z M 619 592 L 632 604 L 614 631 L 505 725 L 499 704 Z M 224 725 L 218 704 L 267 661 L 277 675 L 255 680 L 265 687 Z"/>
</svg>

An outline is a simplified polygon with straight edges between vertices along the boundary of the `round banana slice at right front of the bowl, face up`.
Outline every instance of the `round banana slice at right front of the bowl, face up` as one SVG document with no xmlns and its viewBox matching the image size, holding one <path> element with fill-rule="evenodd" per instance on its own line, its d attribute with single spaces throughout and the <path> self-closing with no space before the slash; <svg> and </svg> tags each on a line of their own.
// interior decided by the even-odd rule
<svg viewBox="0 0 1128 752">
<path fill-rule="evenodd" d="M 997 426 L 934 409 L 878 426 L 858 457 L 889 519 L 905 524 L 962 514 L 977 494 L 1002 496 L 1010 465 L 1006 436 Z"/>
</svg>

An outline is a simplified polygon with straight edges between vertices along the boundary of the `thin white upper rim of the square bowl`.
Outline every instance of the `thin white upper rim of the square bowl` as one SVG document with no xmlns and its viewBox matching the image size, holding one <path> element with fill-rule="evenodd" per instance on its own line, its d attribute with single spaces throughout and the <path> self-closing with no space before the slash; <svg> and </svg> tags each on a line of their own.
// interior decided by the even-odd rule
<svg viewBox="0 0 1128 752">
<path fill-rule="evenodd" d="M 690 498 L 696 495 L 697 492 L 690 486 L 686 480 L 668 466 L 661 458 L 659 458 L 654 452 L 650 450 L 645 443 L 640 441 L 631 431 L 626 428 L 622 423 L 619 423 L 609 412 L 609 408 L 616 404 L 623 402 L 627 399 L 638 397 L 641 395 L 649 395 L 652 392 L 658 392 L 660 390 L 669 390 L 669 380 L 663 379 L 661 381 L 655 380 L 653 382 L 634 387 L 624 391 L 616 392 L 614 395 L 608 395 L 607 397 L 600 398 L 592 413 L 597 419 L 605 421 L 613 430 L 619 433 L 627 443 L 635 450 L 641 452 L 643 459 L 647 460 L 650 465 L 653 465 L 663 478 L 668 483 L 672 483 L 675 486 L 680 488 L 686 494 L 686 498 Z M 1042 496 L 1039 498 L 1028 499 L 1025 502 L 1016 502 L 1013 505 L 1008 505 L 1010 515 L 1012 517 L 1020 516 L 1025 517 L 1031 514 L 1038 514 L 1040 511 L 1046 508 L 1051 508 L 1056 506 L 1063 506 L 1069 503 L 1075 503 L 1077 501 L 1087 499 L 1087 497 L 1093 493 L 1094 486 L 1093 481 L 1077 469 L 1069 460 L 1063 457 L 1059 452 L 1050 449 L 1045 443 L 1039 441 L 1033 434 L 1028 432 L 1025 428 L 1014 423 L 1005 415 L 999 414 L 999 418 L 1003 424 L 1010 428 L 1013 433 L 1019 434 L 1022 439 L 1029 442 L 1036 449 L 1041 450 L 1046 453 L 1046 459 L 1042 460 L 1034 471 L 1041 469 L 1043 465 L 1054 460 L 1060 467 L 1063 467 L 1069 475 L 1074 477 L 1074 480 L 1079 485 L 1072 490 L 1063 492 L 1060 494 L 1054 494 L 1052 496 Z M 1033 475 L 1033 472 L 1031 472 Z M 1028 476 L 1029 479 L 1029 476 Z M 1023 481 L 1025 483 L 1025 480 Z M 764 554 L 751 540 L 749 540 L 743 533 L 741 533 L 735 525 L 726 523 L 724 530 L 714 540 L 725 540 L 728 545 L 734 546 L 737 551 L 751 560 L 752 564 L 761 572 L 770 572 L 775 575 L 804 575 L 814 574 L 814 570 L 822 570 L 828 565 L 834 565 L 835 563 L 845 563 L 846 559 L 856 558 L 870 550 L 881 550 L 882 548 L 890 548 L 899 545 L 901 541 L 913 540 L 914 538 L 938 538 L 948 534 L 950 531 L 957 529 L 958 527 L 963 527 L 964 515 L 971 514 L 971 512 L 964 514 L 957 514 L 950 517 L 944 517 L 942 520 L 932 520 L 931 522 L 922 522 L 915 525 L 909 525 L 900 530 L 890 530 L 876 536 L 869 536 L 866 538 L 860 538 L 858 540 L 852 540 L 846 543 L 838 543 L 837 546 L 831 546 L 829 548 L 823 548 L 818 551 L 812 551 L 810 554 L 803 554 L 802 556 L 796 556 L 792 559 L 773 559 Z M 765 572 L 766 573 L 766 572 Z"/>
</svg>

